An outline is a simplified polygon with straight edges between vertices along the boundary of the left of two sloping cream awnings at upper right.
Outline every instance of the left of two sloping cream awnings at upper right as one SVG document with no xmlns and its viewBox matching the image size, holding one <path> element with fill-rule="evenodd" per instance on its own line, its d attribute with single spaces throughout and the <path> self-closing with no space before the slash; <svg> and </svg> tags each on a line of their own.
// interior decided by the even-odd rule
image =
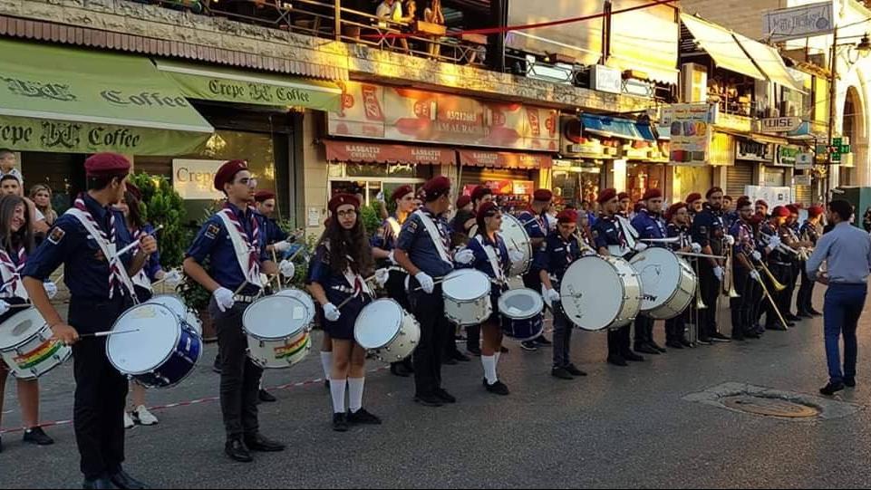
<svg viewBox="0 0 871 490">
<path fill-rule="evenodd" d="M 758 80 L 766 80 L 765 75 L 741 49 L 730 30 L 690 14 L 681 14 L 681 22 L 690 30 L 699 47 L 713 58 L 717 66 Z"/>
</svg>

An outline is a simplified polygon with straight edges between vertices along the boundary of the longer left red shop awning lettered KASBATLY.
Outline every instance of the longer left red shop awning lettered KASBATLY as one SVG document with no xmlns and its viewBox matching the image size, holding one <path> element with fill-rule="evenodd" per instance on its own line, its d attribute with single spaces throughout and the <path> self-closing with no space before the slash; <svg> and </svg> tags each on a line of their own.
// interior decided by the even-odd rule
<svg viewBox="0 0 871 490">
<path fill-rule="evenodd" d="M 412 165 L 454 165 L 452 149 L 380 145 L 363 141 L 324 141 L 327 161 L 352 163 L 402 163 Z"/>
</svg>

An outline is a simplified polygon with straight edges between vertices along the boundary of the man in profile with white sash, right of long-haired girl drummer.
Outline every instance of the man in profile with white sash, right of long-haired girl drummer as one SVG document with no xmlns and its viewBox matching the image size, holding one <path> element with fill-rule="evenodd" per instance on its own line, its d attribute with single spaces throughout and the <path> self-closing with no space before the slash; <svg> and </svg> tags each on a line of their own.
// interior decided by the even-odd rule
<svg viewBox="0 0 871 490">
<path fill-rule="evenodd" d="M 450 180 L 432 178 L 423 185 L 424 204 L 402 226 L 393 257 L 409 273 L 411 312 L 421 323 L 421 341 L 414 351 L 414 400 L 427 407 L 455 403 L 441 388 L 441 356 L 449 330 L 441 285 L 435 281 L 453 271 L 450 231 L 444 214 L 450 209 Z"/>
</svg>

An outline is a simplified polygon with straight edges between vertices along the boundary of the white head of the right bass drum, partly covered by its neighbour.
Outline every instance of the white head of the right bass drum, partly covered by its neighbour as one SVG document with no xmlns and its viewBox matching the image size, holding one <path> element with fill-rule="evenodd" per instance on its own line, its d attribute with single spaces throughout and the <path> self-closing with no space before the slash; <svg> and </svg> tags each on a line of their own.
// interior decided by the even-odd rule
<svg viewBox="0 0 871 490">
<path fill-rule="evenodd" d="M 662 306 L 681 283 L 681 263 L 664 248 L 651 247 L 629 261 L 641 279 L 643 312 Z"/>
</svg>

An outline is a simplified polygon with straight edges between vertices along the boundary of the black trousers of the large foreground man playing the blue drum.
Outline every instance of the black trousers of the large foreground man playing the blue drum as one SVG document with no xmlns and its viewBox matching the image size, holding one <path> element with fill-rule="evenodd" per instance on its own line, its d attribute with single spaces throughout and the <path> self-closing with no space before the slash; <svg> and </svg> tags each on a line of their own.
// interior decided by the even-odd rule
<svg viewBox="0 0 871 490">
<path fill-rule="evenodd" d="M 69 323 L 80 333 L 109 330 L 125 308 L 120 295 L 104 303 L 73 297 Z M 106 338 L 82 339 L 73 345 L 73 376 L 75 442 L 82 474 L 92 480 L 117 472 L 124 462 L 128 381 L 106 357 Z"/>
</svg>

